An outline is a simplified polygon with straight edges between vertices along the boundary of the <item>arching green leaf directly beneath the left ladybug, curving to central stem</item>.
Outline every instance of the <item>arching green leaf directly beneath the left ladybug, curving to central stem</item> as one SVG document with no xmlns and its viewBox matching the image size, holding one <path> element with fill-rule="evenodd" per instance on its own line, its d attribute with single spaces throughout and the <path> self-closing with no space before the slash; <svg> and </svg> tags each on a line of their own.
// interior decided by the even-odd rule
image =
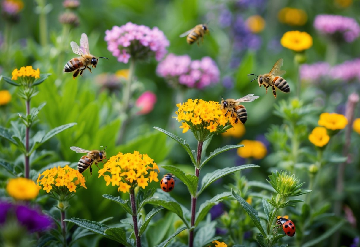
<svg viewBox="0 0 360 247">
<path fill-rule="evenodd" d="M 169 194 L 164 193 L 155 193 L 153 197 L 148 198 L 143 201 L 144 204 L 150 203 L 157 206 L 163 206 L 167 210 L 170 210 L 171 212 L 174 212 L 177 214 L 177 216 L 180 217 L 181 220 L 183 220 L 184 224 L 187 228 L 190 228 L 189 222 L 185 219 L 184 206 L 181 206 L 180 203 L 178 203 L 174 198 L 172 198 Z M 186 213 L 186 212 L 185 212 Z"/>
</svg>

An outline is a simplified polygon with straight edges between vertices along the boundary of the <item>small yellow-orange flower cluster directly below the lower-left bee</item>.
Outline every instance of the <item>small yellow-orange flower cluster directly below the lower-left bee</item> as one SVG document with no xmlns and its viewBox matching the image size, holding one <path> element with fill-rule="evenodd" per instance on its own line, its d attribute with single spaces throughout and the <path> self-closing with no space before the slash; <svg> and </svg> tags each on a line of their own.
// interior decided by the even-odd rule
<svg viewBox="0 0 360 247">
<path fill-rule="evenodd" d="M 76 180 L 73 181 L 74 179 Z M 42 189 L 46 190 L 47 193 L 53 189 L 53 186 L 63 191 L 67 188 L 69 192 L 76 192 L 76 189 L 80 186 L 87 189 L 85 182 L 84 176 L 68 165 L 45 170 L 42 174 L 39 174 L 36 180 L 36 183 L 40 183 Z"/>
</svg>

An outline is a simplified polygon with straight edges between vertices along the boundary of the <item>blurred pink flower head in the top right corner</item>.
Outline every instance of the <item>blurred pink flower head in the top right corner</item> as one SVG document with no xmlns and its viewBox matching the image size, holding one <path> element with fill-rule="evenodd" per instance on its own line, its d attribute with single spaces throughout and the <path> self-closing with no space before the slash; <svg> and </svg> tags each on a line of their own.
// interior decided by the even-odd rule
<svg viewBox="0 0 360 247">
<path fill-rule="evenodd" d="M 341 15 L 317 15 L 314 27 L 324 34 L 341 33 L 343 39 L 349 43 L 360 35 L 360 26 L 355 19 Z"/>
</svg>

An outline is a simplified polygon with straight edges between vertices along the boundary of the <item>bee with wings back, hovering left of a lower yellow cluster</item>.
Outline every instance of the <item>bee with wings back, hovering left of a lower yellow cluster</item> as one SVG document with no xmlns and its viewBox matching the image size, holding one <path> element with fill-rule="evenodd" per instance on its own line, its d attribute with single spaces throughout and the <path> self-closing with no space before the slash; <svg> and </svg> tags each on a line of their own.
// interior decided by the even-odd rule
<svg viewBox="0 0 360 247">
<path fill-rule="evenodd" d="M 96 166 L 98 166 L 98 163 L 101 161 L 103 162 L 104 159 L 106 159 L 106 153 L 104 150 L 86 150 L 79 147 L 70 147 L 71 150 L 75 151 L 76 153 L 87 153 L 87 155 L 84 155 L 80 158 L 79 162 L 77 163 L 77 170 L 82 173 L 84 172 L 87 167 L 90 167 L 90 176 L 93 173 L 93 169 L 91 168 L 91 165 L 95 163 Z M 99 168 L 99 167 L 98 167 Z"/>
</svg>

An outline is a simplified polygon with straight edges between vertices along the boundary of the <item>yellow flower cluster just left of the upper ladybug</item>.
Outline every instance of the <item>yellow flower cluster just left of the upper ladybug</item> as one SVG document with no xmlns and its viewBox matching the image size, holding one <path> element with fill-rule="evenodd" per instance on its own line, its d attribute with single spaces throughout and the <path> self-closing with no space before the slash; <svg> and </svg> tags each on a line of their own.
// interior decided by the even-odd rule
<svg viewBox="0 0 360 247">
<path fill-rule="evenodd" d="M 127 193 L 136 185 L 145 189 L 148 181 L 149 183 L 153 180 L 158 182 L 159 171 L 159 167 L 147 154 L 140 154 L 138 151 L 126 154 L 119 152 L 109 158 L 104 167 L 99 170 L 99 178 L 104 176 L 106 186 L 111 183 L 112 186 L 119 187 L 117 189 L 119 192 Z M 105 174 L 107 172 L 109 174 Z"/>
</svg>

